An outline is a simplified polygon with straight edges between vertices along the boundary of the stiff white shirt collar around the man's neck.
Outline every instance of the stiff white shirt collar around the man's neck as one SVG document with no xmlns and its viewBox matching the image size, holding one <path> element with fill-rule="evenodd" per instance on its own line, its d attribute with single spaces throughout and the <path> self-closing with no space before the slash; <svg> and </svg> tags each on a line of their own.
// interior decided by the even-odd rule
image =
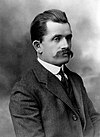
<svg viewBox="0 0 100 137">
<path fill-rule="evenodd" d="M 41 60 L 40 58 L 37 58 L 37 60 L 48 70 L 50 71 L 52 74 L 57 75 L 60 71 L 61 67 L 55 66 L 53 64 L 47 63 L 43 60 Z"/>
</svg>

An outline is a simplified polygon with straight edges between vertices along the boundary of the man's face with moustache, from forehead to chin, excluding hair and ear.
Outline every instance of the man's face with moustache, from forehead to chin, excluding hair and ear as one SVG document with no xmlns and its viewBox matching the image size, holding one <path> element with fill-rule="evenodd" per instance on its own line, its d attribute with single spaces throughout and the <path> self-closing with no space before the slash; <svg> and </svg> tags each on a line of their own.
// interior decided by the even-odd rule
<svg viewBox="0 0 100 137">
<path fill-rule="evenodd" d="M 68 63 L 71 49 L 72 32 L 68 23 L 47 22 L 47 34 L 40 44 L 42 54 L 40 58 L 50 64 L 61 66 Z"/>
</svg>

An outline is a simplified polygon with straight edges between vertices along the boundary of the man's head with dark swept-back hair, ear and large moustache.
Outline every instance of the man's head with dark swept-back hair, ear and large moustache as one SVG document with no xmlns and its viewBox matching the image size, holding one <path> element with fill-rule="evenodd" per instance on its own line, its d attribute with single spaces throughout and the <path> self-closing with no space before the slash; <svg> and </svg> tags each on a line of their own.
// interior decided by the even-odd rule
<svg viewBox="0 0 100 137">
<path fill-rule="evenodd" d="M 64 12 L 53 9 L 40 13 L 32 21 L 30 33 L 39 58 L 58 66 L 69 61 L 72 31 Z"/>
</svg>

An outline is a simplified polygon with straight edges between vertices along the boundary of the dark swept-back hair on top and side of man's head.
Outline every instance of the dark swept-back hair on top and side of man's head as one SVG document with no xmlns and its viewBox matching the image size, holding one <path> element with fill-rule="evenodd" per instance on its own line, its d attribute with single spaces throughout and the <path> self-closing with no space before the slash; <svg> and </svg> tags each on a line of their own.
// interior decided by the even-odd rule
<svg viewBox="0 0 100 137">
<path fill-rule="evenodd" d="M 69 24 L 65 12 L 57 9 L 44 11 L 43 13 L 38 14 L 31 23 L 30 34 L 32 42 L 34 40 L 42 42 L 43 36 L 46 35 L 46 22 L 49 20 Z"/>
</svg>

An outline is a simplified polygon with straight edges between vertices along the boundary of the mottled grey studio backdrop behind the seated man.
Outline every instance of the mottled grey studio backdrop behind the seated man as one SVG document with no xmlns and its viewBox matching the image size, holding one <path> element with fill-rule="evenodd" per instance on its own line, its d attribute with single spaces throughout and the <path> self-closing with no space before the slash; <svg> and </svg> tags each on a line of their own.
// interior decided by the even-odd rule
<svg viewBox="0 0 100 137">
<path fill-rule="evenodd" d="M 11 88 L 36 57 L 30 23 L 50 8 L 65 11 L 69 18 L 74 57 L 68 66 L 82 76 L 100 112 L 100 1 L 0 0 L 0 137 L 15 137 L 8 107 Z"/>
</svg>

